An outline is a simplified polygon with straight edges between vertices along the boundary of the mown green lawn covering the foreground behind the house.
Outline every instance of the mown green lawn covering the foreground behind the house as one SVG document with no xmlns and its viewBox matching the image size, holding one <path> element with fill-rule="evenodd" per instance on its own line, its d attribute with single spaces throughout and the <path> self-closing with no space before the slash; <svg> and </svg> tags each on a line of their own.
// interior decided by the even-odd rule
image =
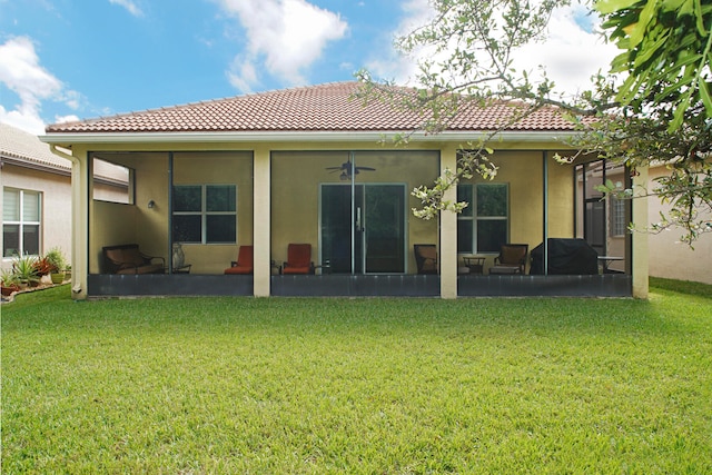
<svg viewBox="0 0 712 475">
<path fill-rule="evenodd" d="M 2 306 L 2 473 L 712 473 L 712 287 Z"/>
</svg>

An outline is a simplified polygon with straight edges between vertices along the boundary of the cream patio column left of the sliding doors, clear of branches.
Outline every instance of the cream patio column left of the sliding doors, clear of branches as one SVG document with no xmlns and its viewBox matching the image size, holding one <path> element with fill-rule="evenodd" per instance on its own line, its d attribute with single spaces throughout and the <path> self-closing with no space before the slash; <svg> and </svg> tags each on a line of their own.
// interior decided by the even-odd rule
<svg viewBox="0 0 712 475">
<path fill-rule="evenodd" d="M 253 219 L 253 246 L 254 246 L 254 290 L 255 297 L 269 297 L 270 295 L 270 243 L 271 243 L 271 215 L 270 215 L 270 166 L 269 149 L 265 146 L 255 148 L 253 156 L 254 168 L 254 219 Z"/>
</svg>

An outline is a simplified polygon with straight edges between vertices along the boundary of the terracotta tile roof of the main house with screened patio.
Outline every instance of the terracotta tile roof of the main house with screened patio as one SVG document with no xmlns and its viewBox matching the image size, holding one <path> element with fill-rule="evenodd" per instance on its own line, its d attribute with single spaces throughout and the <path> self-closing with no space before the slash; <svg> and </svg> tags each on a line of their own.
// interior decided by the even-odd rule
<svg viewBox="0 0 712 475">
<path fill-rule="evenodd" d="M 352 99 L 358 82 L 335 82 L 49 126 L 47 132 L 396 131 L 423 118 L 382 102 Z M 504 103 L 467 105 L 448 130 L 495 130 L 512 113 Z M 542 110 L 508 130 L 572 130 L 557 110 Z"/>
</svg>

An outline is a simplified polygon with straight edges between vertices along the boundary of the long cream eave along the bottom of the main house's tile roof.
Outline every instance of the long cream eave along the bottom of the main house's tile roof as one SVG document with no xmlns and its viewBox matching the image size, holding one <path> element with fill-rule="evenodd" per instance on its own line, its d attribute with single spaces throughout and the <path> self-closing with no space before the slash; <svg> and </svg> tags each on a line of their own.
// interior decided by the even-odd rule
<svg viewBox="0 0 712 475">
<path fill-rule="evenodd" d="M 47 144 L 72 146 L 92 144 L 196 144 L 196 142 L 374 142 L 402 130 L 382 131 L 225 131 L 225 132 L 49 132 L 39 136 Z M 473 140 L 483 130 L 448 130 L 439 133 L 414 132 L 412 142 L 442 142 Z M 497 133 L 495 140 L 505 142 L 551 142 L 571 138 L 578 132 L 570 130 L 511 130 Z"/>
</svg>

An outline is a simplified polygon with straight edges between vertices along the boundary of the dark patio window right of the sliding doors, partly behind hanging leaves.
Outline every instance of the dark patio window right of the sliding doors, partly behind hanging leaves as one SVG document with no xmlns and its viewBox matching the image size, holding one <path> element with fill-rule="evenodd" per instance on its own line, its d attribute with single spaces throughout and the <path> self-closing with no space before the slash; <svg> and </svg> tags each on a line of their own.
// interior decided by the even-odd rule
<svg viewBox="0 0 712 475">
<path fill-rule="evenodd" d="M 500 251 L 500 246 L 507 241 L 510 228 L 508 185 L 458 185 L 457 201 L 469 204 L 457 216 L 457 251 Z"/>
</svg>

